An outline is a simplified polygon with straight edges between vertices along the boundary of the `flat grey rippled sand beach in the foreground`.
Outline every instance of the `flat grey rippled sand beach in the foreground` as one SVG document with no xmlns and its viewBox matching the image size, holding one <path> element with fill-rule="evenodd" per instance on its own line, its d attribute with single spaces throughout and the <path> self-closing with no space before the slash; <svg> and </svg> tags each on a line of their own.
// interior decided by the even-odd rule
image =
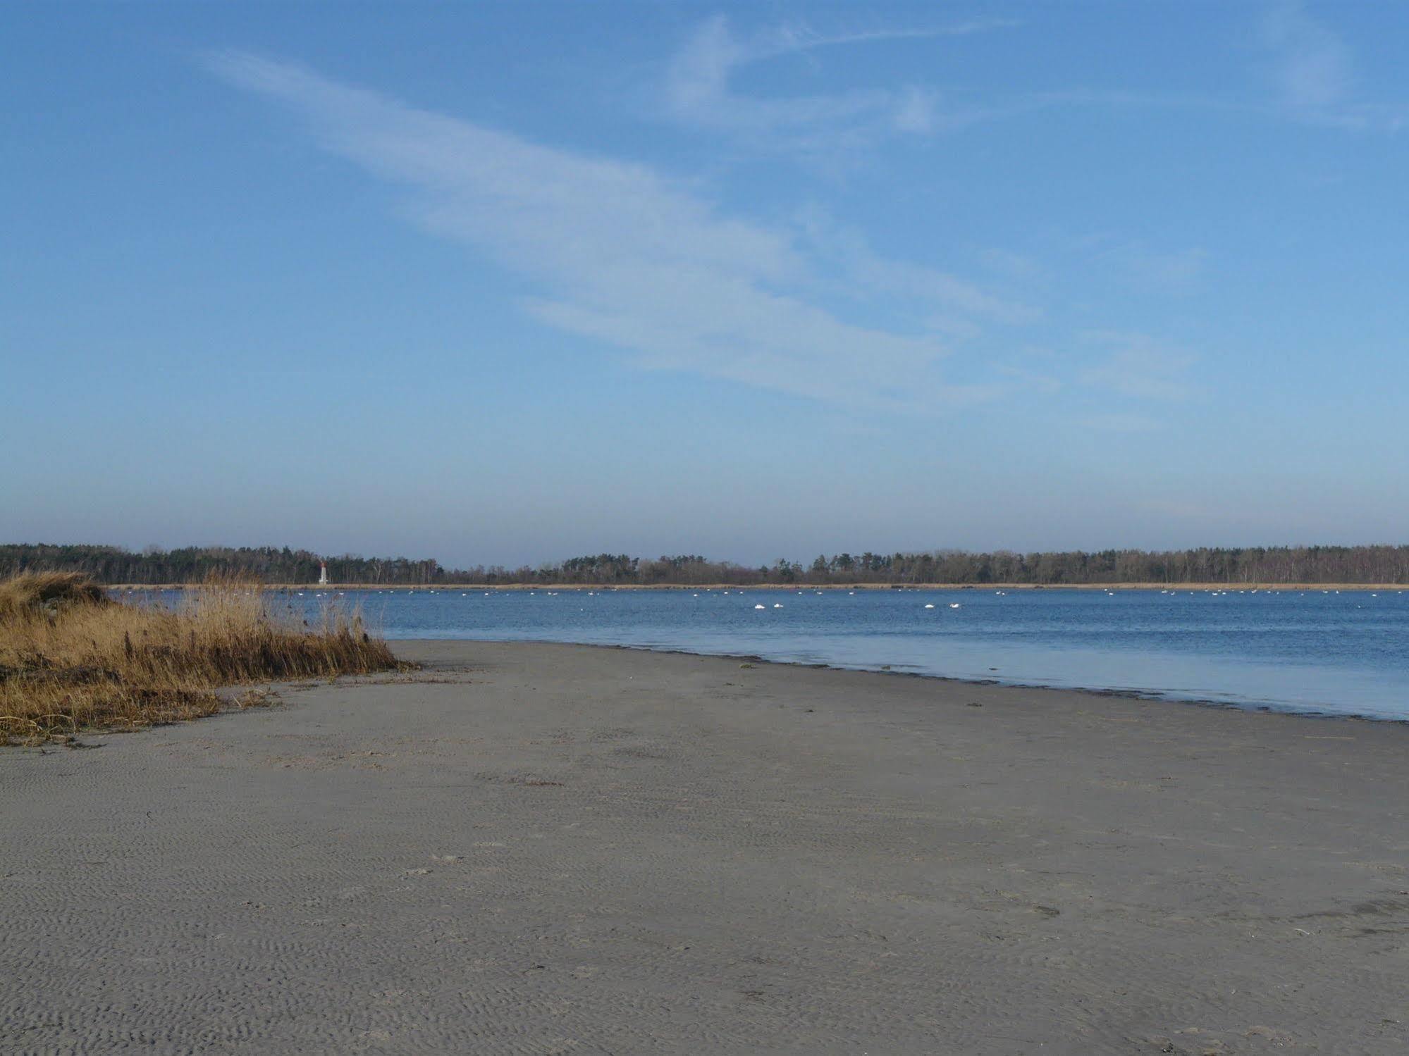
<svg viewBox="0 0 1409 1056">
<path fill-rule="evenodd" d="M 0 752 L 0 1052 L 1409 1052 L 1409 727 L 397 649 Z"/>
</svg>

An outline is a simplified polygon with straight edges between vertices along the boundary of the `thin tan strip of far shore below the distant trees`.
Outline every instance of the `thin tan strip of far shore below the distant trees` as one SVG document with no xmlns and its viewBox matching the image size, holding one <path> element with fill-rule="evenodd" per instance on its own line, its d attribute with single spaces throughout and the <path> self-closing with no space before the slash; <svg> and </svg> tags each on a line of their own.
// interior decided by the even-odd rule
<svg viewBox="0 0 1409 1056">
<path fill-rule="evenodd" d="M 106 590 L 185 590 L 200 583 L 104 583 Z M 1409 583 L 261 583 L 261 590 L 1409 590 Z"/>
</svg>

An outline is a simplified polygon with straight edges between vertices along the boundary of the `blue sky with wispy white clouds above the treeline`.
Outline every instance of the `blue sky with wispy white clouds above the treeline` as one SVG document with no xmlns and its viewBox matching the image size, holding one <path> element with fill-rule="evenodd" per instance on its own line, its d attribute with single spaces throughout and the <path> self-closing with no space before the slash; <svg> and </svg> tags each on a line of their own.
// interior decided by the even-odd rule
<svg viewBox="0 0 1409 1056">
<path fill-rule="evenodd" d="M 1409 3 L 0 6 L 0 541 L 1409 542 Z"/>
</svg>

